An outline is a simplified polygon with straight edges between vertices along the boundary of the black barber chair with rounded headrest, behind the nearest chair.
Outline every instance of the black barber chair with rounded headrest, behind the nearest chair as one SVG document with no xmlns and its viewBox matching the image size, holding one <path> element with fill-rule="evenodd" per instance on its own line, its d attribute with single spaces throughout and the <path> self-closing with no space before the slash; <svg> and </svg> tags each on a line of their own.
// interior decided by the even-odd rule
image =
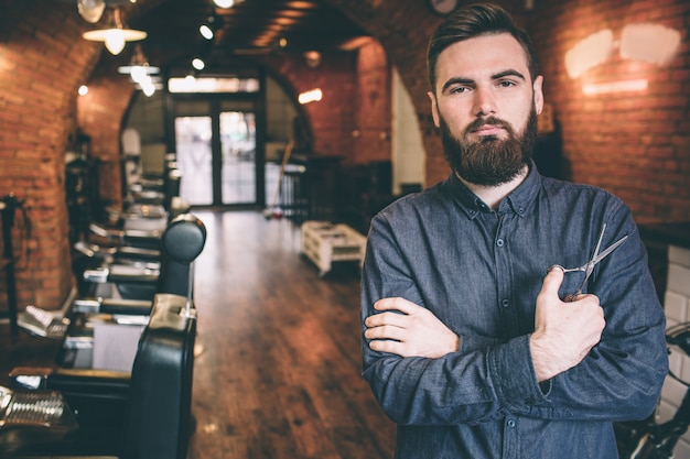
<svg viewBox="0 0 690 459">
<path fill-rule="evenodd" d="M 180 215 L 170 221 L 159 239 L 159 262 L 144 259 L 139 264 L 114 262 L 85 269 L 82 278 L 93 286 L 88 296 L 111 297 L 114 287 L 116 296 L 123 299 L 150 299 L 154 293 L 185 295 L 191 263 L 201 254 L 205 241 L 203 222 L 191 214 Z M 153 255 L 150 249 L 149 253 Z M 130 253 L 130 256 L 134 255 Z"/>
</svg>

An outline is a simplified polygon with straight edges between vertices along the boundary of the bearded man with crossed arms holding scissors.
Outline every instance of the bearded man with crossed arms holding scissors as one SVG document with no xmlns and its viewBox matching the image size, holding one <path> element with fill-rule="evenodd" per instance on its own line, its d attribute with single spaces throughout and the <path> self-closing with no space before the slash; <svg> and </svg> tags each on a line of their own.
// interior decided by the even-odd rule
<svg viewBox="0 0 690 459">
<path fill-rule="evenodd" d="M 542 77 L 504 10 L 457 11 L 428 64 L 452 174 L 373 219 L 362 283 L 363 374 L 396 457 L 617 458 L 613 422 L 654 411 L 668 365 L 630 211 L 538 173 Z M 602 250 L 627 239 L 574 294 L 584 273 L 549 266 L 587 262 L 604 225 Z"/>
</svg>

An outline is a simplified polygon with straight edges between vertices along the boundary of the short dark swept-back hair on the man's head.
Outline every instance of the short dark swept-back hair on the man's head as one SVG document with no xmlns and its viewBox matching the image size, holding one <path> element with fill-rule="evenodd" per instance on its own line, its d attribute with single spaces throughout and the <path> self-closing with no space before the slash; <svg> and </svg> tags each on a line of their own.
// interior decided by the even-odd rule
<svg viewBox="0 0 690 459">
<path fill-rule="evenodd" d="M 463 40 L 481 35 L 509 33 L 525 50 L 527 66 L 532 79 L 537 77 L 537 53 L 532 41 L 522 29 L 518 28 L 506 10 L 495 4 L 470 4 L 461 8 L 443 21 L 431 35 L 427 51 L 427 68 L 431 90 L 435 91 L 436 61 L 448 46 Z"/>
</svg>

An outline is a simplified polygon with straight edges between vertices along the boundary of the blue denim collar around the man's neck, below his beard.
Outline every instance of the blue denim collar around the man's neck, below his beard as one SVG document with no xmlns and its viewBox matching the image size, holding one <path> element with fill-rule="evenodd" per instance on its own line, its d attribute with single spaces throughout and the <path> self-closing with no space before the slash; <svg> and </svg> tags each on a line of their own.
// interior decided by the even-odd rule
<svg viewBox="0 0 690 459">
<path fill-rule="evenodd" d="M 537 198 L 541 186 L 541 175 L 537 171 L 533 161 L 530 161 L 529 173 L 525 181 L 515 188 L 498 206 L 498 214 L 513 211 L 524 216 Z M 470 219 L 476 218 L 482 212 L 490 212 L 492 209 L 462 183 L 455 173 L 451 173 L 446 181 L 446 187 L 460 204 Z"/>
</svg>

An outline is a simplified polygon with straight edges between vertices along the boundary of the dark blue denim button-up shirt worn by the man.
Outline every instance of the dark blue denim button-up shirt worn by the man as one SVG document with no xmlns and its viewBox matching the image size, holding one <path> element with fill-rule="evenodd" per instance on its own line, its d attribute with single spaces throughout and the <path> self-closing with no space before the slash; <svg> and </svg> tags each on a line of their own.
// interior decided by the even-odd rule
<svg viewBox="0 0 690 459">
<path fill-rule="evenodd" d="M 589 261 L 604 222 L 602 249 L 628 239 L 585 288 L 605 312 L 601 342 L 539 384 L 529 337 L 547 269 Z M 565 274 L 561 297 L 582 276 Z M 658 402 L 665 315 L 630 211 L 602 189 L 532 164 L 494 211 L 451 175 L 373 219 L 362 287 L 363 323 L 377 299 L 401 296 L 461 337 L 440 359 L 375 352 L 363 339 L 364 378 L 398 424 L 396 458 L 617 458 L 612 423 L 644 418 Z"/>
</svg>

